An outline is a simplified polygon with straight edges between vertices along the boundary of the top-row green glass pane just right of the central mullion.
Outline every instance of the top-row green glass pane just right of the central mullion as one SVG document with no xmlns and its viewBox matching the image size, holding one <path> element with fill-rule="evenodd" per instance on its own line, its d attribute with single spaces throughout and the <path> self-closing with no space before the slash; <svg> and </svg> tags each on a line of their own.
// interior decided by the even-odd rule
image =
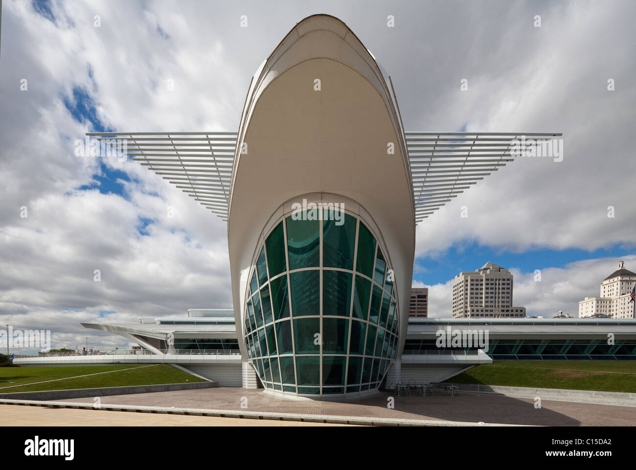
<svg viewBox="0 0 636 470">
<path fill-rule="evenodd" d="M 322 266 L 326 268 L 354 268 L 356 219 L 338 211 L 324 211 L 322 221 Z M 336 214 L 334 219 L 329 214 Z"/>
</svg>

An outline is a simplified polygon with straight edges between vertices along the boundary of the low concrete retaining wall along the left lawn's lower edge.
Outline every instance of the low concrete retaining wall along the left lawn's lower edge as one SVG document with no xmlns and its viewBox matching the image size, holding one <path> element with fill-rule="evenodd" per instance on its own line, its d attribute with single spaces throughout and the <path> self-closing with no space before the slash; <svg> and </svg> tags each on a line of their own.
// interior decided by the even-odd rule
<svg viewBox="0 0 636 470">
<path fill-rule="evenodd" d="M 0 393 L 0 399 L 8 400 L 66 400 L 69 398 L 129 395 L 135 393 L 172 392 L 176 390 L 198 390 L 218 387 L 217 382 L 186 382 L 185 384 L 132 385 L 130 387 L 102 387 L 99 389 L 50 390 L 42 392 Z"/>
</svg>

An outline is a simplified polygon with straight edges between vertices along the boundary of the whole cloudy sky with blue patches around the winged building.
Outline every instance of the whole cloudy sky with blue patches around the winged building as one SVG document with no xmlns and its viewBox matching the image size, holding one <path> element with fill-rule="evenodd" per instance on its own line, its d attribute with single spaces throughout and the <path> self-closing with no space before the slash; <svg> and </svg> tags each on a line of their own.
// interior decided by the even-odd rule
<svg viewBox="0 0 636 470">
<path fill-rule="evenodd" d="M 74 141 L 236 130 L 252 74 L 314 13 L 373 52 L 406 130 L 563 132 L 562 162 L 518 158 L 418 225 L 413 285 L 431 287 L 431 316 L 450 316 L 454 275 L 487 261 L 515 274 L 516 305 L 549 316 L 576 315 L 619 259 L 636 270 L 633 1 L 4 0 L 0 324 L 121 347 L 79 322 L 232 307 L 225 223 Z"/>
</svg>

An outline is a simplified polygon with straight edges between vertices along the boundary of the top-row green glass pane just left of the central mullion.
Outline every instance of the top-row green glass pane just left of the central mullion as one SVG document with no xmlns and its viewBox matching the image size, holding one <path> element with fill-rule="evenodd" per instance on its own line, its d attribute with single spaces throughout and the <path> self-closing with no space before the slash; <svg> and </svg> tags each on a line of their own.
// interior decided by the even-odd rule
<svg viewBox="0 0 636 470">
<path fill-rule="evenodd" d="M 289 269 L 314 268 L 320 265 L 320 221 L 302 220 L 307 212 L 287 218 L 287 252 Z"/>
</svg>

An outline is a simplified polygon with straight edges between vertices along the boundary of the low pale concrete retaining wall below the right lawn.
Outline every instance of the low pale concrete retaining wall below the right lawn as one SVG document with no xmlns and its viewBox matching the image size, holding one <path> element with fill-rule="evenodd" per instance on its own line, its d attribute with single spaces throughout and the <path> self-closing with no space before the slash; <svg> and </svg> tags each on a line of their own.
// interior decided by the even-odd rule
<svg viewBox="0 0 636 470">
<path fill-rule="evenodd" d="M 452 382 L 452 380 L 450 382 Z M 503 385 L 455 385 L 459 387 L 460 393 L 469 392 L 532 399 L 534 399 L 534 397 L 540 397 L 542 400 L 575 401 L 577 403 L 611 404 L 614 406 L 636 407 L 636 393 L 628 392 L 600 392 L 594 390 L 571 389 L 538 389 L 532 387 L 504 387 Z"/>
</svg>

